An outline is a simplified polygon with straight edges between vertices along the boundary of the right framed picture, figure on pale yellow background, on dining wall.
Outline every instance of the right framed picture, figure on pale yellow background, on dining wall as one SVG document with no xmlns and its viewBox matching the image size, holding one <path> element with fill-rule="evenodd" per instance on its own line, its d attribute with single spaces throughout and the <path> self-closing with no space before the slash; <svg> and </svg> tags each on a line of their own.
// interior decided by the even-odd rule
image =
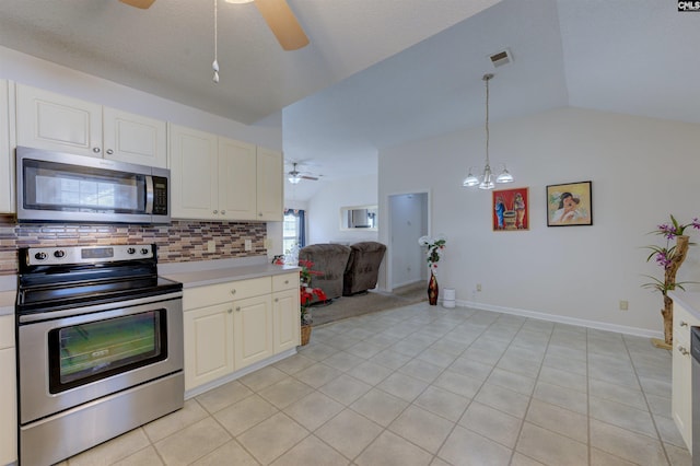
<svg viewBox="0 0 700 466">
<path fill-rule="evenodd" d="M 547 186 L 547 226 L 593 224 L 591 182 Z"/>
</svg>

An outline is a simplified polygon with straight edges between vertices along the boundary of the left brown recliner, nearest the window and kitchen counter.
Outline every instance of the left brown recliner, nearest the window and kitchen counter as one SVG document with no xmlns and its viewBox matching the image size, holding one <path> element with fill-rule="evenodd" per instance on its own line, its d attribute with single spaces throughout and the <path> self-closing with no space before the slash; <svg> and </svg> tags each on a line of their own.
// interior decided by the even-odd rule
<svg viewBox="0 0 700 466">
<path fill-rule="evenodd" d="M 299 259 L 312 261 L 312 270 L 318 273 L 312 278 L 312 287 L 320 288 L 328 300 L 342 295 L 349 258 L 350 247 L 342 244 L 312 244 L 299 252 Z M 314 301 L 318 299 L 314 296 Z"/>
</svg>

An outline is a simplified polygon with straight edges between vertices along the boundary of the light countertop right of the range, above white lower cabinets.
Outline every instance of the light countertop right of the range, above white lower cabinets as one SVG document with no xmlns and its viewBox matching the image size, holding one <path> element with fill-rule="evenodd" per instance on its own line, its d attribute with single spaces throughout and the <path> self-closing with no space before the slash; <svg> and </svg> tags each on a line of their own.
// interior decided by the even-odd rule
<svg viewBox="0 0 700 466">
<path fill-rule="evenodd" d="M 200 260 L 159 265 L 159 273 L 170 280 L 179 281 L 183 288 L 205 287 L 228 281 L 270 277 L 300 270 L 292 266 L 273 266 L 267 257 L 242 259 Z"/>
</svg>

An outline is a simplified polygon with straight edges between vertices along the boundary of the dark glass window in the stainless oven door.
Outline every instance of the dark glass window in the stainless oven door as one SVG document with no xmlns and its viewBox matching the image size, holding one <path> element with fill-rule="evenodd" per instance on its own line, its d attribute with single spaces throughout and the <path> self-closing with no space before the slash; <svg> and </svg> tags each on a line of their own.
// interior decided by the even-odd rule
<svg viewBox="0 0 700 466">
<path fill-rule="evenodd" d="M 167 358 L 165 310 L 55 328 L 49 392 L 60 393 Z"/>
</svg>

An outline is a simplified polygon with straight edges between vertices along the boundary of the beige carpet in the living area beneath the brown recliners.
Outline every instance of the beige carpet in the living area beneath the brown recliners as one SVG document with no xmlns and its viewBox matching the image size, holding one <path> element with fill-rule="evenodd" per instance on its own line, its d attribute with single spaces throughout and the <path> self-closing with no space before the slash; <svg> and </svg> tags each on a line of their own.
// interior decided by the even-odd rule
<svg viewBox="0 0 700 466">
<path fill-rule="evenodd" d="M 427 301 L 427 290 L 428 286 L 421 281 L 397 288 L 393 293 L 370 291 L 366 294 L 336 298 L 330 304 L 311 306 L 313 326 Z"/>
</svg>

